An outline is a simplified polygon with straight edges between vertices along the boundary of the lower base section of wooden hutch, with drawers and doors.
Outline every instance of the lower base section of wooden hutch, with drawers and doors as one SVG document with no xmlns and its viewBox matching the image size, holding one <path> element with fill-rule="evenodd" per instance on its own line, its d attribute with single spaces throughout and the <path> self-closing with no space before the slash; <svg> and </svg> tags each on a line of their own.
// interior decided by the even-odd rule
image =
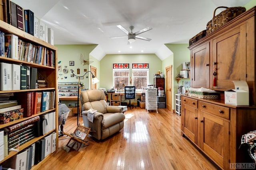
<svg viewBox="0 0 256 170">
<path fill-rule="evenodd" d="M 181 131 L 222 169 L 247 163 L 241 137 L 256 129 L 255 106 L 226 105 L 221 100 L 182 96 Z"/>
</svg>

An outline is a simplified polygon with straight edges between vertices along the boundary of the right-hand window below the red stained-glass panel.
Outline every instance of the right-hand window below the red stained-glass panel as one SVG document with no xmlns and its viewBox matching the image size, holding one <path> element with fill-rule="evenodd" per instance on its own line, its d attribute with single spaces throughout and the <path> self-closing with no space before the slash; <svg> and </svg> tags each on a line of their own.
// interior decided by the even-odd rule
<svg viewBox="0 0 256 170">
<path fill-rule="evenodd" d="M 132 82 L 136 89 L 142 89 L 148 84 L 148 69 L 132 69 Z"/>
</svg>

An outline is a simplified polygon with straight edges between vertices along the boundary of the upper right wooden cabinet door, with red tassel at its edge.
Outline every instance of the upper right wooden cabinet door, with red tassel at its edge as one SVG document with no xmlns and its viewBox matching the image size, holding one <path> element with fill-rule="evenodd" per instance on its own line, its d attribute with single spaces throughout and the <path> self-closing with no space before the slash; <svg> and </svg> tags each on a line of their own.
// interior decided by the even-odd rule
<svg viewBox="0 0 256 170">
<path fill-rule="evenodd" d="M 213 39 L 216 87 L 234 89 L 234 80 L 246 80 L 246 24 Z M 212 76 L 213 78 L 213 76 Z"/>
</svg>

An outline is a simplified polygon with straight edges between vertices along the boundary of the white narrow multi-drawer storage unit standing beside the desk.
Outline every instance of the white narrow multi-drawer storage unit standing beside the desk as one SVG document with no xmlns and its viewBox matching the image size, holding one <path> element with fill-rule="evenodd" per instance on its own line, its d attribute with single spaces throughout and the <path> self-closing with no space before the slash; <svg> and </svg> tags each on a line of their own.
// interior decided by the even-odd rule
<svg viewBox="0 0 256 170">
<path fill-rule="evenodd" d="M 146 109 L 157 111 L 157 88 L 148 88 L 146 90 Z"/>
</svg>

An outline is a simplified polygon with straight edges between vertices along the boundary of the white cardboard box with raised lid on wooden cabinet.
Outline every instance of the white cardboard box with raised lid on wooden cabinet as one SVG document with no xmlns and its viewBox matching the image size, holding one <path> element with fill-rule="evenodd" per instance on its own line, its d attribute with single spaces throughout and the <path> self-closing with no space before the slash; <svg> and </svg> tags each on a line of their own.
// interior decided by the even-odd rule
<svg viewBox="0 0 256 170">
<path fill-rule="evenodd" d="M 246 81 L 233 81 L 235 89 L 224 92 L 225 104 L 249 106 L 249 88 Z"/>
</svg>

